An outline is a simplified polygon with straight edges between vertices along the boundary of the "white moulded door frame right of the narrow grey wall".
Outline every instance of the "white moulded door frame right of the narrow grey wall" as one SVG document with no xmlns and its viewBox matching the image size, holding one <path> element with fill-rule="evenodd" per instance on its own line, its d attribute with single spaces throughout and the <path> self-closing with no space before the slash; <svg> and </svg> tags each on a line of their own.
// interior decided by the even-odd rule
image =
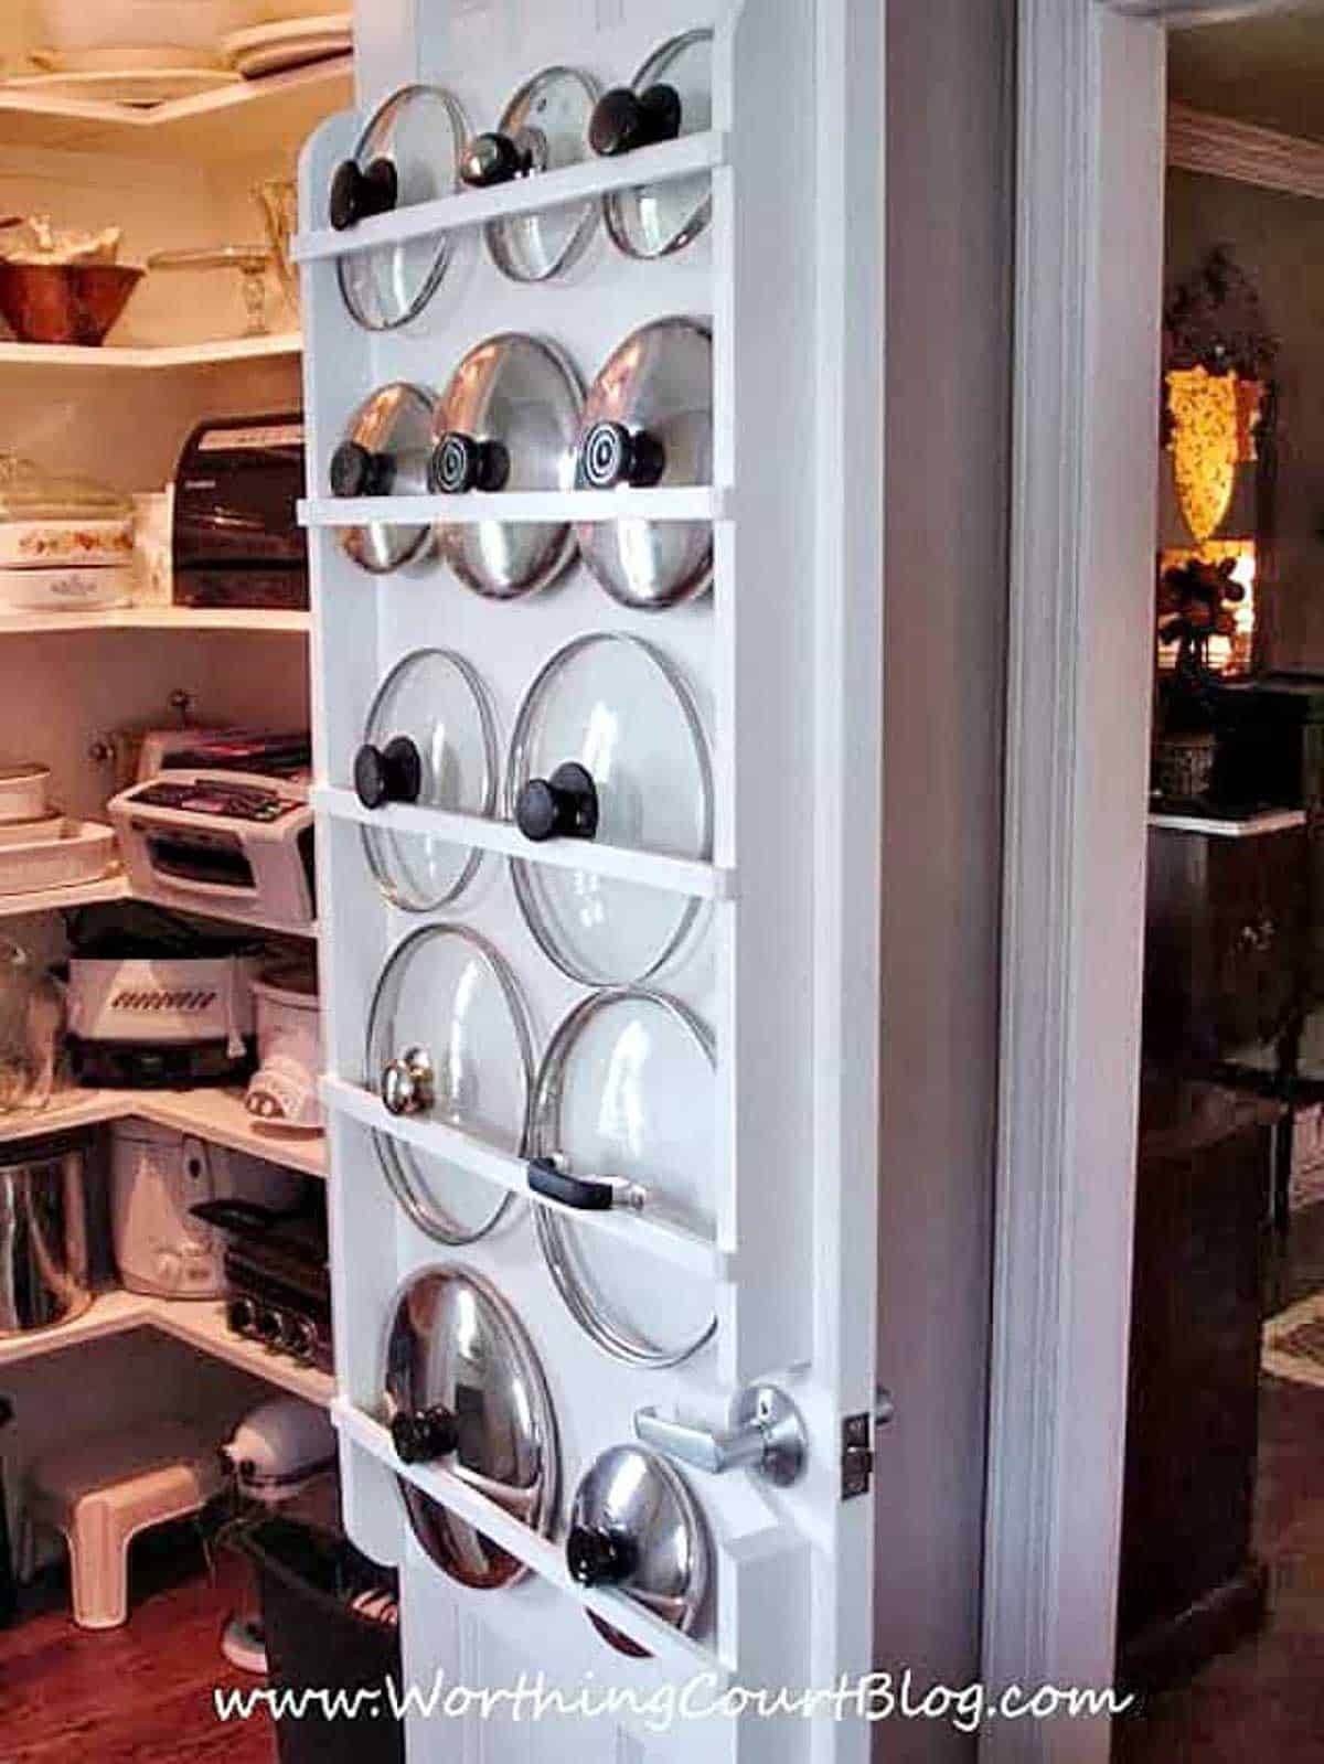
<svg viewBox="0 0 1324 1764">
<path fill-rule="evenodd" d="M 1020 0 L 983 1678 L 1114 1672 L 1144 947 L 1169 23 Z M 1125 707 L 1133 707 L 1128 718 Z M 990 1723 L 1105 1764 L 1110 1723 Z"/>
</svg>

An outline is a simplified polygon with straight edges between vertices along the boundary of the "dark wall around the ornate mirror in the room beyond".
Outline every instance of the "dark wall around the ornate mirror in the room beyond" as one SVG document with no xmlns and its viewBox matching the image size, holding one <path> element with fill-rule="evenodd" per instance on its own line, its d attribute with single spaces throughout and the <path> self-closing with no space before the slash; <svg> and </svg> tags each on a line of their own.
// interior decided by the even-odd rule
<svg viewBox="0 0 1324 1764">
<path fill-rule="evenodd" d="M 1266 660 L 1324 670 L 1324 203 L 1167 175 L 1169 284 L 1227 245 L 1278 339 L 1278 591 Z"/>
</svg>

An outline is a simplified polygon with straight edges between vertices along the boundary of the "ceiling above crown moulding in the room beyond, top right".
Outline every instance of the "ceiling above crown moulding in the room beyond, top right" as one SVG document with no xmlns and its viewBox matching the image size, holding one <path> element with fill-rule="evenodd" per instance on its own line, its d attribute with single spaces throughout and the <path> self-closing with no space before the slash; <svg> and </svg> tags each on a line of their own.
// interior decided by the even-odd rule
<svg viewBox="0 0 1324 1764">
<path fill-rule="evenodd" d="M 1324 141 L 1324 0 L 1170 32 L 1169 97 Z"/>
</svg>

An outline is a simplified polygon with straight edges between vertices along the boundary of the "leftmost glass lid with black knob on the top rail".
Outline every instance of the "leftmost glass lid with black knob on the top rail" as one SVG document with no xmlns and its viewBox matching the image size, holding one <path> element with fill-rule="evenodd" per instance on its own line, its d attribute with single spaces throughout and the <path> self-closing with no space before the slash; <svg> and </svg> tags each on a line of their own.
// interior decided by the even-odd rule
<svg viewBox="0 0 1324 1764">
<path fill-rule="evenodd" d="M 369 118 L 353 157 L 335 168 L 330 224 L 348 231 L 372 215 L 413 208 L 459 189 L 468 127 L 441 86 L 402 86 Z M 355 250 L 337 261 L 341 296 L 367 330 L 408 325 L 447 272 L 450 233 Z"/>
</svg>

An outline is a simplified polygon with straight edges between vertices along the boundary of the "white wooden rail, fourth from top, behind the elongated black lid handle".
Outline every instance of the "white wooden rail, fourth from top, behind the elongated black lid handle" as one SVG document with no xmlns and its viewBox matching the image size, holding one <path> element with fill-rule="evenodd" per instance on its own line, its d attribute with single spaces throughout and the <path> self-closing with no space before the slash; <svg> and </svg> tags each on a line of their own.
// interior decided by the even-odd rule
<svg viewBox="0 0 1324 1764">
<path fill-rule="evenodd" d="M 445 1122 L 392 1115 L 371 1090 L 346 1083 L 342 1078 L 323 1078 L 321 1097 L 327 1108 L 348 1115 L 362 1127 L 371 1127 L 372 1132 L 387 1134 L 417 1147 L 420 1152 L 429 1152 L 433 1157 L 459 1164 L 461 1170 L 482 1177 L 498 1189 L 523 1194 L 535 1207 L 547 1207 L 575 1226 L 614 1240 L 623 1249 L 643 1249 L 690 1274 L 718 1281 L 731 1277 L 733 1254 L 680 1221 L 650 1214 L 646 1207 L 643 1212 L 628 1208 L 583 1212 L 577 1207 L 563 1207 L 560 1201 L 533 1194 L 528 1185 L 528 1159 L 484 1145 L 482 1140 L 475 1140 L 457 1127 L 448 1127 Z"/>
</svg>

